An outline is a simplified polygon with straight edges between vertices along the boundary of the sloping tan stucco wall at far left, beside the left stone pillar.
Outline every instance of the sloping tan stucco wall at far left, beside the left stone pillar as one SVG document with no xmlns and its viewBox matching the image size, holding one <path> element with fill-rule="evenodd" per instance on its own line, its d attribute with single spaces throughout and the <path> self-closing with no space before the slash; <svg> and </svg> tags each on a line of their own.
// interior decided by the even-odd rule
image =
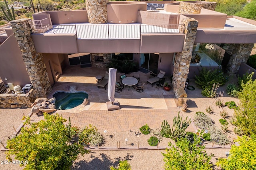
<svg viewBox="0 0 256 170">
<path fill-rule="evenodd" d="M 4 83 L 13 83 L 14 86 L 20 85 L 21 87 L 30 84 L 30 78 L 14 34 L 0 45 L 0 51 L 0 77 Z"/>
</svg>

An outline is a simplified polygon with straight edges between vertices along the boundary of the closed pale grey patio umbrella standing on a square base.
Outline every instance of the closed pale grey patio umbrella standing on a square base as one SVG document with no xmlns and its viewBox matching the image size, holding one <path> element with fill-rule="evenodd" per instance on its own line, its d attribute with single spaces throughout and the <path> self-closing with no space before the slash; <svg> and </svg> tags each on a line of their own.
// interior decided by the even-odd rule
<svg viewBox="0 0 256 170">
<path fill-rule="evenodd" d="M 114 104 L 116 88 L 116 69 L 110 68 L 108 72 L 108 100 Z"/>
</svg>

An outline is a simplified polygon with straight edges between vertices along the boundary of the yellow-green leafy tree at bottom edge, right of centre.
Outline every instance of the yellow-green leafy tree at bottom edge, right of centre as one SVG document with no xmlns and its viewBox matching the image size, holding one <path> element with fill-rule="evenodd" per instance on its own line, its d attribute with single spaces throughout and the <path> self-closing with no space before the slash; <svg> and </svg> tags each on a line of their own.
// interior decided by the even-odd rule
<svg viewBox="0 0 256 170">
<path fill-rule="evenodd" d="M 191 143 L 188 138 L 178 138 L 176 148 L 169 143 L 171 148 L 166 148 L 164 155 L 166 170 L 212 170 L 210 163 L 212 154 L 207 155 L 205 146 L 198 145 L 200 138 L 194 138 Z"/>
</svg>

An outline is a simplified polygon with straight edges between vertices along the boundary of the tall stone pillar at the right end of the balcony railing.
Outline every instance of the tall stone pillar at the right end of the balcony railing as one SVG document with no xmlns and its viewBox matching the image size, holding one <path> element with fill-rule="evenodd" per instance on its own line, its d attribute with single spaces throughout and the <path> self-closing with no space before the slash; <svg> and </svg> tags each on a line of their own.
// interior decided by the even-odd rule
<svg viewBox="0 0 256 170">
<path fill-rule="evenodd" d="M 183 18 L 185 40 L 182 52 L 176 53 L 172 78 L 173 89 L 185 87 L 189 65 L 192 57 L 193 45 L 196 39 L 198 21 L 194 18 Z"/>
</svg>

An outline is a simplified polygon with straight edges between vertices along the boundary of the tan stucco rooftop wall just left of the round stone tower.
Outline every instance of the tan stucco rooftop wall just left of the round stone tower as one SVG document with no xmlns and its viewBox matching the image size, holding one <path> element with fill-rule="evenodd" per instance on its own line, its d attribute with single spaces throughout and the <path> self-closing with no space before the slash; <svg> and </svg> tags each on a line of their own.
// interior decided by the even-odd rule
<svg viewBox="0 0 256 170">
<path fill-rule="evenodd" d="M 88 22 L 86 10 L 75 11 L 46 11 L 50 14 L 52 24 L 71 24 Z"/>
</svg>

